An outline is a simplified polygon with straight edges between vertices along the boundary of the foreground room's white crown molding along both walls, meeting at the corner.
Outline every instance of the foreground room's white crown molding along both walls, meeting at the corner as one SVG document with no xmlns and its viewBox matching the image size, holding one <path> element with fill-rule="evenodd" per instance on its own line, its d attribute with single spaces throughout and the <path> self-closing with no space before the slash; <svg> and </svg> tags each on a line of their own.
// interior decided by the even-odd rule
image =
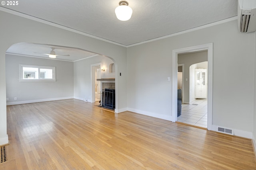
<svg viewBox="0 0 256 170">
<path fill-rule="evenodd" d="M 42 20 L 40 18 L 29 16 L 27 14 L 22 14 L 20 12 L 16 12 L 16 11 L 13 11 L 13 10 L 10 10 L 10 9 L 7 9 L 7 8 L 1 7 L 1 6 L 0 6 L 0 10 L 4 11 L 4 12 L 7 12 L 7 13 L 10 13 L 10 14 L 14 14 L 16 16 L 20 16 L 20 17 L 27 18 L 27 19 L 30 19 L 30 20 L 34 20 L 34 21 L 38 21 L 38 22 L 45 23 L 45 24 L 48 24 L 48 25 L 52 25 L 54 27 L 65 29 L 65 30 L 68 30 L 68 31 L 71 31 L 71 32 L 74 32 L 74 33 L 79 33 L 79 34 L 82 34 L 82 35 L 85 35 L 85 36 L 88 36 L 88 37 L 99 39 L 99 40 L 102 40 L 102 41 L 105 41 L 105 42 L 108 42 L 108 43 L 112 43 L 112 44 L 115 44 L 115 45 L 120 45 L 122 47 L 133 47 L 133 46 L 136 46 L 136 45 L 140 45 L 140 44 L 144 44 L 144 43 L 149 43 L 149 42 L 152 42 L 152 41 L 156 41 L 156 40 L 160 40 L 160 39 L 165 39 L 165 38 L 168 38 L 168 37 L 173 37 L 173 36 L 184 34 L 184 33 L 188 33 L 188 32 L 191 32 L 191 31 L 196 31 L 196 30 L 207 28 L 207 27 L 211 27 L 211 26 L 214 26 L 214 25 L 219 25 L 221 23 L 226 23 L 226 22 L 229 22 L 229 21 L 237 20 L 237 18 L 238 18 L 237 16 L 234 16 L 234 17 L 231 17 L 231 18 L 227 18 L 225 20 L 220 20 L 220 21 L 216 21 L 216 22 L 213 22 L 213 23 L 209 23 L 209 24 L 206 24 L 206 25 L 199 26 L 199 27 L 195 27 L 195 28 L 192 28 L 192 29 L 187 29 L 185 31 L 180 31 L 178 33 L 173 33 L 173 34 L 170 34 L 170 35 L 165 35 L 165 36 L 162 36 L 162 37 L 158 37 L 158 38 L 142 41 L 140 43 L 134 43 L 134 44 L 131 44 L 131 45 L 123 45 L 123 44 L 120 44 L 120 43 L 116 43 L 114 41 L 110 41 L 108 39 L 103 39 L 103 38 L 97 37 L 95 35 L 91 35 L 91 34 L 88 34 L 88 33 L 84 33 L 82 31 L 78 31 L 76 29 L 68 28 L 68 27 L 65 27 L 63 25 L 59 25 L 57 23 L 53 23 L 53 22 L 50 22 L 50 21 Z"/>
</svg>

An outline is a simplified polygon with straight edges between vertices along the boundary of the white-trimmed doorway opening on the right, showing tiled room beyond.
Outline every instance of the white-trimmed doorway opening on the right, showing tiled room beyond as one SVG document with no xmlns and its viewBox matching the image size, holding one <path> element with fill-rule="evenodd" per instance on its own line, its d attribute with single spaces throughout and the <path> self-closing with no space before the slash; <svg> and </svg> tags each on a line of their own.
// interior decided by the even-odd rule
<svg viewBox="0 0 256 170">
<path fill-rule="evenodd" d="M 207 59 L 207 51 L 187 53 L 186 55 L 181 56 L 178 55 L 178 61 L 179 57 L 191 58 L 188 59 L 186 64 L 191 63 L 191 61 L 203 61 Z M 180 64 L 178 64 L 178 89 L 180 78 L 179 65 Z M 181 111 L 177 114 L 178 122 L 196 127 L 207 128 L 207 68 L 208 62 L 204 61 L 190 65 L 189 72 L 184 73 L 185 77 L 188 77 L 189 75 L 189 83 L 187 83 L 189 84 L 189 89 L 187 90 L 189 91 L 189 101 L 186 104 L 184 102 L 182 103 Z"/>
</svg>

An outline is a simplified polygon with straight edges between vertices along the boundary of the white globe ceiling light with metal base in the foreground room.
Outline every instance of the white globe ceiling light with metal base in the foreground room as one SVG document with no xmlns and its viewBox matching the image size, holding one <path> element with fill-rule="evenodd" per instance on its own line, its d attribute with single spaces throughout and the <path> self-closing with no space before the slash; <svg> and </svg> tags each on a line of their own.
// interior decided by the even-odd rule
<svg viewBox="0 0 256 170">
<path fill-rule="evenodd" d="M 130 20 L 132 16 L 132 8 L 128 6 L 127 1 L 122 0 L 119 2 L 119 6 L 116 7 L 115 13 L 116 13 L 116 18 L 118 20 L 127 21 L 127 20 Z"/>
</svg>

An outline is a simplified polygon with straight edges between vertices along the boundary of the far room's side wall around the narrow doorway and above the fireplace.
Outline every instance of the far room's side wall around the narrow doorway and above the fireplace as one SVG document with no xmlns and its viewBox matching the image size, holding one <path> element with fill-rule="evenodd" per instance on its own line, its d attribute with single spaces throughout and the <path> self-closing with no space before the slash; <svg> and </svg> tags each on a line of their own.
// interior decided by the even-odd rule
<svg viewBox="0 0 256 170">
<path fill-rule="evenodd" d="M 101 78 L 115 78 L 115 74 L 108 73 L 108 66 L 113 61 L 107 57 L 96 56 L 74 62 L 74 97 L 79 100 L 92 100 L 91 65 L 101 63 L 105 71 L 101 71 Z"/>
</svg>

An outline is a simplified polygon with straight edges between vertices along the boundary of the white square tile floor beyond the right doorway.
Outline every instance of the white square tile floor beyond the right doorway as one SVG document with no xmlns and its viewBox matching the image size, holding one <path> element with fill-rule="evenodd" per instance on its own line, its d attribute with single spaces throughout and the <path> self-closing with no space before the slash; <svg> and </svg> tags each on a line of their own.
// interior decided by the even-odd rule
<svg viewBox="0 0 256 170">
<path fill-rule="evenodd" d="M 207 128 L 207 99 L 197 99 L 191 104 L 182 104 L 178 122 Z"/>
</svg>

